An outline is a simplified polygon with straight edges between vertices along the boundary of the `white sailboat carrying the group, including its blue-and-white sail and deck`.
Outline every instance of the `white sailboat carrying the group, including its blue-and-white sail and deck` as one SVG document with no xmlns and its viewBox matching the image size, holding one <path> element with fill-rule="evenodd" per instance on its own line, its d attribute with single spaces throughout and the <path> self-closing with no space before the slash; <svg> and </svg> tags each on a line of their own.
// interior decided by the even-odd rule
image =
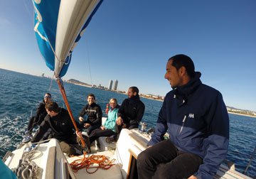
<svg viewBox="0 0 256 179">
<path fill-rule="evenodd" d="M 65 97 L 61 77 L 68 71 L 75 45 L 101 4 L 102 0 L 33 0 L 38 48 L 46 65 L 53 70 L 65 101 L 68 99 Z M 66 106 L 70 116 L 73 116 L 68 104 Z M 86 157 L 105 156 L 113 161 L 110 168 L 98 168 L 93 164 L 95 168 L 74 170 L 71 163 L 84 156 L 66 156 L 56 139 L 21 143 L 15 151 L 7 152 L 3 161 L 14 170 L 26 158 L 33 168 L 25 166 L 20 173 L 23 178 L 137 178 L 137 156 L 146 149 L 151 139 L 150 134 L 150 130 L 145 129 L 122 129 L 117 143 L 107 143 L 105 137 L 100 137 L 100 147 L 96 143 L 92 154 L 86 154 Z M 214 178 L 250 177 L 239 173 L 231 165 L 221 165 Z"/>
</svg>

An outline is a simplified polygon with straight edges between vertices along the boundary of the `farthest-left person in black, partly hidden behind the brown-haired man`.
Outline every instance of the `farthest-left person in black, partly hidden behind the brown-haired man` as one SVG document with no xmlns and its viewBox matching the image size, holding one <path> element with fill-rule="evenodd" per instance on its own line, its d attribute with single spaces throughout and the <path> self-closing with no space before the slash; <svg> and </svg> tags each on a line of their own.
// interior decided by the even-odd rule
<svg viewBox="0 0 256 179">
<path fill-rule="evenodd" d="M 28 127 L 25 132 L 26 135 L 30 136 L 32 134 L 32 130 L 35 126 L 40 126 L 43 119 L 46 117 L 46 104 L 51 102 L 51 94 L 46 93 L 43 97 L 43 102 L 38 105 L 38 109 L 36 110 L 36 116 L 32 116 L 28 121 Z"/>
</svg>

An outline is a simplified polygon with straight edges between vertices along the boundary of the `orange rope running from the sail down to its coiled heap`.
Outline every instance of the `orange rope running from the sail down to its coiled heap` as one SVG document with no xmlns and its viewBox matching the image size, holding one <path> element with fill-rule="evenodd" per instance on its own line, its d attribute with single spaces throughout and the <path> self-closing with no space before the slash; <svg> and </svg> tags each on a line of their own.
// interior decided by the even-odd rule
<svg viewBox="0 0 256 179">
<path fill-rule="evenodd" d="M 73 117 L 73 113 L 70 109 L 70 105 L 68 104 L 68 98 L 65 94 L 65 88 L 63 86 L 63 82 L 60 78 L 57 79 L 58 86 L 60 87 L 60 92 L 63 95 L 63 100 L 65 102 L 65 105 L 68 109 L 68 113 L 70 114 L 71 121 L 73 122 L 73 125 L 75 126 L 75 131 L 78 131 L 78 126 L 75 124 L 75 119 Z M 80 137 L 82 147 L 85 148 L 85 141 Z M 97 166 L 92 166 L 93 164 L 97 164 Z M 82 168 L 86 168 L 87 173 L 95 173 L 99 168 L 102 168 L 104 170 L 109 169 L 110 167 L 114 166 L 114 159 L 111 161 L 107 159 L 106 156 L 97 156 L 92 155 L 86 157 L 86 151 L 83 152 L 83 158 L 77 159 L 70 163 L 71 168 L 74 172 L 78 172 L 78 170 Z M 89 168 L 96 168 L 93 172 L 88 171 Z"/>
</svg>

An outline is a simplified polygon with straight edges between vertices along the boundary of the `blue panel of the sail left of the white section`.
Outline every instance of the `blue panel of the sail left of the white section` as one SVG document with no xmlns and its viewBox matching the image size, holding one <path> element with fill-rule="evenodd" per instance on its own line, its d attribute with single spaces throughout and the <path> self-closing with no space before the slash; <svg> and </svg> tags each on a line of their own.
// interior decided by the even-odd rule
<svg viewBox="0 0 256 179">
<path fill-rule="evenodd" d="M 38 33 L 36 33 L 36 40 L 38 43 L 38 48 L 43 55 L 44 60 L 46 61 L 46 65 L 50 68 L 50 70 L 54 71 L 55 66 L 55 55 L 53 50 L 55 49 L 55 36 L 56 36 L 56 28 L 58 21 L 58 9 L 60 6 L 60 0 L 56 1 L 41 1 L 40 4 L 36 4 L 33 2 L 36 9 L 38 9 L 40 15 L 42 16 L 42 22 L 39 23 L 38 31 L 41 33 L 41 36 L 47 38 L 50 44 L 41 38 Z M 34 23 L 36 26 L 37 20 L 37 12 L 35 11 Z M 52 45 L 53 50 L 50 48 Z"/>
</svg>

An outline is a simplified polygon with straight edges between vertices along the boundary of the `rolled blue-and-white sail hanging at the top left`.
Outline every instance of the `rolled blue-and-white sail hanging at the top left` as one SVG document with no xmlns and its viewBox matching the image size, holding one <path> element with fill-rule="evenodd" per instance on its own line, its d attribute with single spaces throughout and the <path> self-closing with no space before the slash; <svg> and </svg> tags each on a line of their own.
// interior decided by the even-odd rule
<svg viewBox="0 0 256 179">
<path fill-rule="evenodd" d="M 63 77 L 73 49 L 103 0 L 33 0 L 38 48 L 56 78 Z"/>
</svg>

